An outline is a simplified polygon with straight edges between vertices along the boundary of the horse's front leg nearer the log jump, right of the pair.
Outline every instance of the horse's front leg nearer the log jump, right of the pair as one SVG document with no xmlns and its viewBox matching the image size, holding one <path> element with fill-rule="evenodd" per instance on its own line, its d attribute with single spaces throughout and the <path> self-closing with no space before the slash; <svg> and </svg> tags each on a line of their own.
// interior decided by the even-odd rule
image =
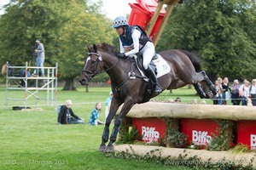
<svg viewBox="0 0 256 170">
<path fill-rule="evenodd" d="M 107 152 L 113 152 L 113 143 L 116 141 L 117 134 L 119 133 L 119 125 L 121 124 L 123 117 L 131 110 L 133 105 L 132 99 L 126 101 L 119 113 L 119 116 L 115 119 L 110 141 L 106 148 Z"/>
</svg>

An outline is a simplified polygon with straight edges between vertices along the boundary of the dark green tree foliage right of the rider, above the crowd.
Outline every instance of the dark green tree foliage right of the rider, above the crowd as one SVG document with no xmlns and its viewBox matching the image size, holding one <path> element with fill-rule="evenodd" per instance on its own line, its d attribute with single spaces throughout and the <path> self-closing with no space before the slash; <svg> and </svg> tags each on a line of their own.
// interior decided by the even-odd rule
<svg viewBox="0 0 256 170">
<path fill-rule="evenodd" d="M 203 69 L 216 77 L 255 77 L 254 1 L 189 0 L 168 20 L 158 50 L 183 48 L 201 55 Z"/>
</svg>

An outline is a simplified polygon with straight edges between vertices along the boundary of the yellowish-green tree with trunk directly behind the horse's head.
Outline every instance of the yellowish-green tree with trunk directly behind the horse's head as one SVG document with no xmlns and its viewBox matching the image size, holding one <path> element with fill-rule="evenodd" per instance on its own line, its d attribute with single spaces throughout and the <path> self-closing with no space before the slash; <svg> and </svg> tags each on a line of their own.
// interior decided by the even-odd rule
<svg viewBox="0 0 256 170">
<path fill-rule="evenodd" d="M 108 21 L 102 14 L 82 12 L 63 28 L 60 42 L 65 50 L 61 50 L 58 56 L 64 58 L 60 61 L 61 78 L 66 80 L 64 90 L 75 89 L 73 80 L 83 70 L 84 59 L 87 57 L 87 45 L 112 42 L 113 30 L 106 20 Z"/>
</svg>

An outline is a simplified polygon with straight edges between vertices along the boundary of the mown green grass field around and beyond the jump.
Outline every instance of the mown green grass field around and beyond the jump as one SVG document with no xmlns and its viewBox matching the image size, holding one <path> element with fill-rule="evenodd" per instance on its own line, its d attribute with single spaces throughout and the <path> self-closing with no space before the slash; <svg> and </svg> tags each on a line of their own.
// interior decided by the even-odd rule
<svg viewBox="0 0 256 170">
<path fill-rule="evenodd" d="M 61 89 L 61 88 L 60 88 Z M 58 104 L 67 99 L 73 100 L 73 111 L 89 121 L 90 111 L 96 102 L 104 102 L 110 88 L 84 88 L 78 91 L 57 93 Z M 98 152 L 102 139 L 103 126 L 61 125 L 56 123 L 55 105 L 45 105 L 39 100 L 42 111 L 12 111 L 13 105 L 22 105 L 20 101 L 10 101 L 5 105 L 5 88 L 0 88 L 0 169 L 187 169 L 188 167 L 164 166 L 154 161 L 134 161 L 105 156 Z M 9 91 L 15 97 L 24 96 L 22 91 Z M 44 95 L 44 94 L 42 94 Z M 155 100 L 175 99 L 177 96 L 191 102 L 198 99 L 194 89 L 182 88 L 164 92 Z M 35 108 L 35 101 L 30 99 L 30 106 Z M 112 128 L 111 128 L 112 129 Z M 188 168 L 189 169 L 189 168 Z"/>
</svg>

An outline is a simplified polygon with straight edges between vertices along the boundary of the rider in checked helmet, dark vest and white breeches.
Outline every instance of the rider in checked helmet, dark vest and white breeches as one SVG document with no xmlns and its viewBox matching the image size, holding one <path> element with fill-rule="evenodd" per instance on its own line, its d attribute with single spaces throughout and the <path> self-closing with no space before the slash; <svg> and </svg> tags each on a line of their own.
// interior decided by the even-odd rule
<svg viewBox="0 0 256 170">
<path fill-rule="evenodd" d="M 125 17 L 119 16 L 113 20 L 113 28 L 119 34 L 120 53 L 116 54 L 120 58 L 125 58 L 131 54 L 143 54 L 143 67 L 154 84 L 154 94 L 160 94 L 162 88 L 157 81 L 155 73 L 149 65 L 154 57 L 154 43 L 140 26 L 128 26 Z"/>
</svg>

